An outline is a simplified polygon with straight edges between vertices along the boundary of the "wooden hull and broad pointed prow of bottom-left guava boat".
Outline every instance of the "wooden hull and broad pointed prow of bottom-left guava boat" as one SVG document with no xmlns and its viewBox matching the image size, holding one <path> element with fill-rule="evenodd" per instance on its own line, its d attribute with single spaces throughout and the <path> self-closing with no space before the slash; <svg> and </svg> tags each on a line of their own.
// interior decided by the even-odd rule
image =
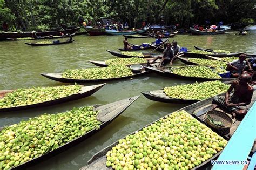
<svg viewBox="0 0 256 170">
<path fill-rule="evenodd" d="M 33 158 L 32 160 L 28 162 L 24 162 L 23 164 L 20 164 L 12 169 L 26 169 L 30 167 L 31 165 L 37 164 L 39 161 L 49 159 L 50 157 L 53 157 L 56 154 L 59 154 L 63 151 L 66 151 L 67 149 L 71 148 L 72 146 L 78 144 L 79 142 L 91 137 L 91 135 L 99 132 L 104 127 L 109 125 L 113 120 L 115 120 L 121 113 L 123 113 L 126 108 L 128 108 L 139 96 L 134 96 L 131 98 L 119 100 L 110 104 L 106 105 L 95 105 L 93 106 L 95 111 L 98 112 L 98 120 L 102 121 L 102 124 L 100 124 L 100 128 L 96 130 L 94 128 L 93 130 L 85 133 L 84 135 L 66 143 L 65 145 L 59 146 L 57 149 L 50 151 L 44 155 L 41 155 L 37 158 Z M 1 127 L 0 130 L 2 130 L 4 127 Z"/>
</svg>

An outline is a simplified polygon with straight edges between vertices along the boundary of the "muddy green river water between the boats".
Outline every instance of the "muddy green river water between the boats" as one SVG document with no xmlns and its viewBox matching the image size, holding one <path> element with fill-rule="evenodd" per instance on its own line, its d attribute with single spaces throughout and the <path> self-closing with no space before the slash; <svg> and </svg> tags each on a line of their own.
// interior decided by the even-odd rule
<svg viewBox="0 0 256 170">
<path fill-rule="evenodd" d="M 193 45 L 197 45 L 234 52 L 256 53 L 256 31 L 248 31 L 246 36 L 238 36 L 234 33 L 236 32 L 214 36 L 177 35 L 170 40 L 178 40 L 178 44 L 181 47 L 187 47 L 188 50 L 194 50 Z M 73 37 L 73 39 L 75 42 L 71 44 L 38 47 L 28 46 L 23 41 L 0 42 L 0 90 L 68 85 L 47 79 L 39 73 L 93 67 L 87 62 L 88 60 L 116 58 L 106 50 L 118 51 L 117 47 L 123 46 L 124 37 L 80 35 Z M 152 38 L 129 39 L 129 42 L 141 44 L 153 40 Z M 151 50 L 147 52 L 149 51 Z M 175 65 L 180 64 L 182 63 L 178 61 L 175 63 Z M 12 125 L 42 113 L 52 114 L 70 110 L 73 107 L 107 104 L 137 96 L 141 91 L 159 90 L 165 86 L 187 83 L 193 83 L 193 81 L 160 77 L 153 73 L 133 80 L 110 81 L 98 92 L 84 99 L 44 108 L 1 113 L 0 126 Z M 30 169 L 79 169 L 87 164 L 93 154 L 112 144 L 112 142 L 184 106 L 186 105 L 158 103 L 141 95 L 122 115 L 103 130 L 67 151 L 39 162 Z"/>
</svg>

